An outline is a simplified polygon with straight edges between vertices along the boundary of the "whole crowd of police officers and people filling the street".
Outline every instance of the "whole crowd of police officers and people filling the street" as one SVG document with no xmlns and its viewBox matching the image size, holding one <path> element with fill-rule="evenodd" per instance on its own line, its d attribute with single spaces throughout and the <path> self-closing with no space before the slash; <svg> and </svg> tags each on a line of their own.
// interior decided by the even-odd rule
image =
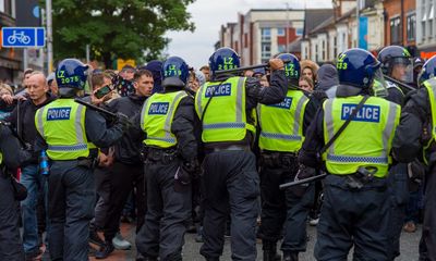
<svg viewBox="0 0 436 261">
<path fill-rule="evenodd" d="M 258 238 L 264 261 L 298 261 L 308 224 L 316 260 L 354 247 L 390 261 L 423 223 L 420 260 L 436 260 L 435 74 L 436 57 L 399 46 L 320 65 L 280 53 L 244 69 L 220 48 L 199 70 L 179 57 L 26 70 L 24 88 L 0 85 L 0 259 L 136 244 L 136 260 L 177 261 L 191 232 L 206 260 L 228 235 L 232 260 L 256 260 Z"/>
</svg>

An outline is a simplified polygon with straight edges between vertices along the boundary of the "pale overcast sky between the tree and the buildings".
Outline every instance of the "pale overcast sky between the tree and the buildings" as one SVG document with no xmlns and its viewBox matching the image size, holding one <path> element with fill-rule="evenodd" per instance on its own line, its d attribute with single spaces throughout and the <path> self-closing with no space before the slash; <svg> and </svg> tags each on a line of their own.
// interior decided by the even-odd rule
<svg viewBox="0 0 436 261">
<path fill-rule="evenodd" d="M 245 14 L 250 9 L 291 9 L 330 8 L 331 0 L 196 0 L 187 7 L 195 32 L 170 32 L 171 42 L 166 51 L 170 55 L 183 58 L 191 66 L 199 69 L 207 64 L 218 41 L 222 24 L 237 22 L 238 13 Z"/>
</svg>

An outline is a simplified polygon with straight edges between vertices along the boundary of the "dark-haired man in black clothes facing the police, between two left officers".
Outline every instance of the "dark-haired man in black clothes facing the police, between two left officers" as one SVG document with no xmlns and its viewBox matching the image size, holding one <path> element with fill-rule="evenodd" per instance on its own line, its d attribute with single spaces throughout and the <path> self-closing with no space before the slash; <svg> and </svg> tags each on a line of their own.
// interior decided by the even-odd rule
<svg viewBox="0 0 436 261">
<path fill-rule="evenodd" d="M 137 70 L 133 76 L 133 86 L 135 88 L 134 95 L 121 97 L 111 101 L 107 105 L 108 110 L 121 112 L 129 117 L 134 117 L 138 114 L 144 101 L 152 95 L 154 86 L 152 72 L 147 70 Z M 144 224 L 146 202 L 144 191 L 144 167 L 143 161 L 141 160 L 141 144 L 136 142 L 135 138 L 133 138 L 130 133 L 125 133 L 116 144 L 113 162 L 105 174 L 109 183 L 110 203 L 108 204 L 105 217 L 105 246 L 100 251 L 96 252 L 97 259 L 105 259 L 116 247 L 120 248 L 120 244 L 117 239 L 113 239 L 117 236 L 120 237 L 120 217 L 125 201 L 133 189 L 135 189 L 134 195 L 137 208 L 136 232 L 138 232 Z"/>
</svg>

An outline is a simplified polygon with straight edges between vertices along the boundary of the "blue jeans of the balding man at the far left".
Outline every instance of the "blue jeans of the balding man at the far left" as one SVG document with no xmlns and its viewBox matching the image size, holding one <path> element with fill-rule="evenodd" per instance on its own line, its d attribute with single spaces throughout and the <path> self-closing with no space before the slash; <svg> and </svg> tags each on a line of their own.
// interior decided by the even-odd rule
<svg viewBox="0 0 436 261">
<path fill-rule="evenodd" d="M 38 202 L 38 192 L 41 187 L 44 188 L 44 194 L 46 195 L 45 198 L 47 199 L 47 179 L 39 174 L 38 165 L 31 164 L 22 169 L 20 182 L 27 189 L 27 198 L 21 202 L 23 219 L 23 247 L 26 253 L 31 253 L 39 249 L 36 204 Z"/>
</svg>

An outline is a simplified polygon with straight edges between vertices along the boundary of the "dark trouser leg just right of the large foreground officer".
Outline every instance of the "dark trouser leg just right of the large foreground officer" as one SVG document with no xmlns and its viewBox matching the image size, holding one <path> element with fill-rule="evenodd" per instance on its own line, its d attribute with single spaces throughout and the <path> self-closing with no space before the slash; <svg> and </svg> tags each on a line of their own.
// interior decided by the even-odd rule
<svg viewBox="0 0 436 261">
<path fill-rule="evenodd" d="M 388 175 L 390 194 L 390 228 L 389 228 L 389 260 L 400 256 L 400 236 L 405 219 L 405 207 L 409 201 L 408 164 L 398 163 L 390 167 Z"/>
</svg>

